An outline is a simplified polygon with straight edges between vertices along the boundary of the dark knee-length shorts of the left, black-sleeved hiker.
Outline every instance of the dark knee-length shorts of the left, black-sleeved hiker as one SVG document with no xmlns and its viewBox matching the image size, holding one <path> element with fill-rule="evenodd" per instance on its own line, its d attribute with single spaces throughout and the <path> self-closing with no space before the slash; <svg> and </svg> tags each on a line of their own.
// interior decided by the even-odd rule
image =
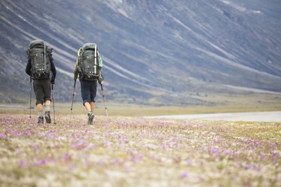
<svg viewBox="0 0 281 187">
<path fill-rule="evenodd" d="M 36 105 L 44 104 L 47 100 L 51 101 L 51 80 L 35 79 L 33 81 L 34 93 L 36 96 Z"/>
</svg>

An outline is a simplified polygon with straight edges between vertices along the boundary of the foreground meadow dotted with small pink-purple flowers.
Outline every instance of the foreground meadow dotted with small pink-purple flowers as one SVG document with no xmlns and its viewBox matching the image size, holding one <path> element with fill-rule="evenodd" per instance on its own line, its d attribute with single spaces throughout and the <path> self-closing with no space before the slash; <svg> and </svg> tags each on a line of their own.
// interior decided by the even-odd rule
<svg viewBox="0 0 281 187">
<path fill-rule="evenodd" d="M 281 124 L 0 116 L 0 186 L 281 186 Z"/>
</svg>

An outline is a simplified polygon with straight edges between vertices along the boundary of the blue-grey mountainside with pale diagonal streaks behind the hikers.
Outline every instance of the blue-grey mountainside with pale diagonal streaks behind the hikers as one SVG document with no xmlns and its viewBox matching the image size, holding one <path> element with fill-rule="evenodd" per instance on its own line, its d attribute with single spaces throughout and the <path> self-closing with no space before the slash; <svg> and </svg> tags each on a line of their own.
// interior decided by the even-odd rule
<svg viewBox="0 0 281 187">
<path fill-rule="evenodd" d="M 193 95 L 281 92 L 280 1 L 3 0 L 0 10 L 1 102 L 28 99 L 34 39 L 54 48 L 60 102 L 71 101 L 87 42 L 98 44 L 111 101 L 212 105 Z"/>
</svg>

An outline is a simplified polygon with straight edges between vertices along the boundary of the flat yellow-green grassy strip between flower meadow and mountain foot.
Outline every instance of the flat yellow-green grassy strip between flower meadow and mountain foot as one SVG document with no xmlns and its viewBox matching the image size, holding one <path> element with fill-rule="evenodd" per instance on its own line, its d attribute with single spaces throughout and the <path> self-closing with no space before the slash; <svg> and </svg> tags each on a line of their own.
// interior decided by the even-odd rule
<svg viewBox="0 0 281 187">
<path fill-rule="evenodd" d="M 16 106 L 17 104 L 10 104 Z M 22 106 L 22 105 L 20 105 Z M 25 104 L 26 107 L 29 107 Z M 71 104 L 56 103 L 55 113 L 69 115 L 71 113 Z M 133 104 L 107 104 L 107 113 L 109 116 L 159 116 L 159 115 L 176 115 L 176 114 L 192 114 L 192 113 L 226 113 L 226 112 L 246 112 L 246 111 L 281 111 L 281 104 L 276 105 L 260 105 L 260 106 L 138 106 Z M 53 107 L 51 108 L 53 113 Z M 0 113 L 8 114 L 26 114 L 29 115 L 29 109 L 1 108 Z M 86 113 L 84 106 L 75 103 L 72 107 L 72 114 Z M 95 111 L 96 115 L 106 115 L 103 103 L 98 104 Z M 32 109 L 32 115 L 37 115 L 36 109 Z"/>
</svg>

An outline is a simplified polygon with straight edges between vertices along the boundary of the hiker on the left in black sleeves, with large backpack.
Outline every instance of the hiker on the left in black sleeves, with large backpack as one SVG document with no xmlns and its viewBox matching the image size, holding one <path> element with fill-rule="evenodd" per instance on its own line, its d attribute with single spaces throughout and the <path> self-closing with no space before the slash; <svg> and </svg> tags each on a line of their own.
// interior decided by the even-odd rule
<svg viewBox="0 0 281 187">
<path fill-rule="evenodd" d="M 52 57 L 53 48 L 48 48 L 42 40 L 30 42 L 27 49 L 28 62 L 25 72 L 33 80 L 38 111 L 38 123 L 44 123 L 43 104 L 45 103 L 46 123 L 51 123 L 51 84 L 55 83 L 55 64 Z"/>
</svg>

